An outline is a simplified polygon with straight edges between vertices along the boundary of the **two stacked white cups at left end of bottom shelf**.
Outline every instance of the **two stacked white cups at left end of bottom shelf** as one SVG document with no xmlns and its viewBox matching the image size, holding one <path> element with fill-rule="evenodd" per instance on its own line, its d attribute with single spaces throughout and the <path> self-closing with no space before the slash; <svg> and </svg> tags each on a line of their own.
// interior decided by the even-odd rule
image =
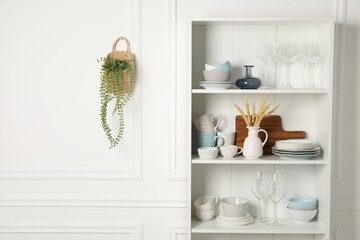
<svg viewBox="0 0 360 240">
<path fill-rule="evenodd" d="M 215 207 L 219 198 L 214 196 L 202 196 L 195 200 L 195 214 L 201 221 L 209 221 L 215 215 Z"/>
</svg>

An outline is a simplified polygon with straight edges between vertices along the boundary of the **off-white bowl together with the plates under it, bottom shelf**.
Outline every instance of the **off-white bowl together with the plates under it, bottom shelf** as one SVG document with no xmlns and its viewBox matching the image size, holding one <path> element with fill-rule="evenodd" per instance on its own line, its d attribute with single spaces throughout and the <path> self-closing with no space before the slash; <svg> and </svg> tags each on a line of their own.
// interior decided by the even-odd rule
<svg viewBox="0 0 360 240">
<path fill-rule="evenodd" d="M 216 221 L 225 225 L 243 226 L 251 223 L 253 217 L 248 213 L 249 200 L 242 197 L 227 197 L 220 201 L 221 212 Z"/>
</svg>

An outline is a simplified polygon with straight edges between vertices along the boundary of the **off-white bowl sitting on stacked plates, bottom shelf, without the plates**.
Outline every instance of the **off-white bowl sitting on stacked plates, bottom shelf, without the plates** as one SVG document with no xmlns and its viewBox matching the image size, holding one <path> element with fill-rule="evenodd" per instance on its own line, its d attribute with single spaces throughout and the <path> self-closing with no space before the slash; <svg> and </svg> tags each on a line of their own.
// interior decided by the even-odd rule
<svg viewBox="0 0 360 240">
<path fill-rule="evenodd" d="M 239 218 L 246 214 L 249 200 L 241 197 L 227 197 L 221 199 L 220 204 L 226 217 Z"/>
</svg>

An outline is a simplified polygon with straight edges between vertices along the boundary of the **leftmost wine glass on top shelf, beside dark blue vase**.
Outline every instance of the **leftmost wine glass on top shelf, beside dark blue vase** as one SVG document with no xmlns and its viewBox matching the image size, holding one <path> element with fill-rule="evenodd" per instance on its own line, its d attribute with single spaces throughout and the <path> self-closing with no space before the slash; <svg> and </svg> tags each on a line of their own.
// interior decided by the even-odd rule
<svg viewBox="0 0 360 240">
<path fill-rule="evenodd" d="M 256 50 L 256 57 L 265 64 L 264 85 L 261 88 L 269 88 L 267 86 L 268 66 L 276 57 L 276 45 L 273 42 L 259 43 Z"/>
</svg>

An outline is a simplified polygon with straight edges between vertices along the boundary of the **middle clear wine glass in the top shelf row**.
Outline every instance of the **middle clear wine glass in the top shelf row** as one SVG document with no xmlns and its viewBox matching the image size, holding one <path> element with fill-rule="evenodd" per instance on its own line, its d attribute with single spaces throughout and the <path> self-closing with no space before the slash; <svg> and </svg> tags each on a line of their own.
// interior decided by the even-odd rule
<svg viewBox="0 0 360 240">
<path fill-rule="evenodd" d="M 286 67 L 286 77 L 285 83 L 282 83 L 282 88 L 291 88 L 291 80 L 290 80 L 290 71 L 291 65 L 298 59 L 300 56 L 300 50 L 298 48 L 297 43 L 295 42 L 284 42 L 280 44 L 277 50 L 277 57 L 282 65 Z"/>
</svg>

